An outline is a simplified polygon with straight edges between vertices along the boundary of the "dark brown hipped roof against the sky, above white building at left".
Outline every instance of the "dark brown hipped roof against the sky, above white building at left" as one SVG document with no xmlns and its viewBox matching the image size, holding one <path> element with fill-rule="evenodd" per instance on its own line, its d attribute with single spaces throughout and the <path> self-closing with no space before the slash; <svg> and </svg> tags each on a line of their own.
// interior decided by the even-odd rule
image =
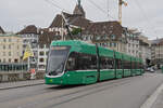
<svg viewBox="0 0 163 108">
<path fill-rule="evenodd" d="M 25 27 L 23 30 L 21 30 L 20 32 L 17 32 L 17 35 L 26 35 L 26 33 L 38 33 L 38 29 L 35 25 L 29 25 L 27 27 Z"/>
</svg>

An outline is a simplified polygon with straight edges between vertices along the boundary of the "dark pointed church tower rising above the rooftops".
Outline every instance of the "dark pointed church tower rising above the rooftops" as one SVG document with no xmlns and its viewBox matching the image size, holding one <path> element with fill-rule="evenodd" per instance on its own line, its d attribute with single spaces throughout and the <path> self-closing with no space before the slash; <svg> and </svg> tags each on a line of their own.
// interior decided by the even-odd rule
<svg viewBox="0 0 163 108">
<path fill-rule="evenodd" d="M 77 0 L 77 4 L 75 6 L 73 14 L 86 17 L 86 13 L 80 4 L 80 0 Z"/>
</svg>

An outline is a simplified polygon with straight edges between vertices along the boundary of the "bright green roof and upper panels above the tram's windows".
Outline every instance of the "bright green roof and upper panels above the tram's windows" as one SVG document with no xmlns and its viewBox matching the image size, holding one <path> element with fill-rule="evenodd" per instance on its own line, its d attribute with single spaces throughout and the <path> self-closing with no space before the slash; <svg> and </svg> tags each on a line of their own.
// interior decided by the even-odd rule
<svg viewBox="0 0 163 108">
<path fill-rule="evenodd" d="M 96 54 L 96 45 L 86 43 L 85 41 L 78 41 L 78 40 L 52 41 L 51 45 L 71 45 L 74 51 L 86 52 L 88 54 Z M 114 57 L 113 50 L 99 46 L 99 52 L 101 56 Z M 121 52 L 115 52 L 116 58 L 122 58 L 122 55 L 123 55 L 123 59 L 125 60 L 131 59 L 133 62 L 141 62 L 141 58 L 134 57 L 134 56 L 130 56 Z"/>
</svg>

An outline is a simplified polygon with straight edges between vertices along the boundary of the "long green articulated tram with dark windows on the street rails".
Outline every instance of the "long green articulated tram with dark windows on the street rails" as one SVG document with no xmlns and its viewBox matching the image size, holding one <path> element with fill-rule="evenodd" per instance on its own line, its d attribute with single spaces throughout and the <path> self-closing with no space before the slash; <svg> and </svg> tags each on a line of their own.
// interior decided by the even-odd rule
<svg viewBox="0 0 163 108">
<path fill-rule="evenodd" d="M 47 60 L 46 84 L 91 84 L 143 73 L 142 60 L 82 41 L 53 41 Z"/>
</svg>

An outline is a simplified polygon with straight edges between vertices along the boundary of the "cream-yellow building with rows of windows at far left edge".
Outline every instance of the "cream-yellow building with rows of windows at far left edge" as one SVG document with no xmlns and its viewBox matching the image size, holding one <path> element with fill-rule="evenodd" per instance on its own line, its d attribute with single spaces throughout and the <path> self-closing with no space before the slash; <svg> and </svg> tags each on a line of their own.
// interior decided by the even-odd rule
<svg viewBox="0 0 163 108">
<path fill-rule="evenodd" d="M 22 63 L 23 39 L 16 35 L 0 35 L 0 63 Z"/>
</svg>

